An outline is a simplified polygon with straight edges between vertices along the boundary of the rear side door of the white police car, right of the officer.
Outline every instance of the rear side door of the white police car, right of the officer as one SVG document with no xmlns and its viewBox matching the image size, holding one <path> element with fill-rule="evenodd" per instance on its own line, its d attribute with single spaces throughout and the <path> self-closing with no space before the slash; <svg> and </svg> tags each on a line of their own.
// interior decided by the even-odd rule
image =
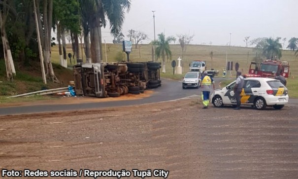
<svg viewBox="0 0 298 179">
<path fill-rule="evenodd" d="M 242 104 L 253 104 L 255 99 L 258 97 L 260 92 L 261 83 L 258 80 L 245 80 L 245 84 L 243 86 L 241 92 L 241 103 Z"/>
</svg>

